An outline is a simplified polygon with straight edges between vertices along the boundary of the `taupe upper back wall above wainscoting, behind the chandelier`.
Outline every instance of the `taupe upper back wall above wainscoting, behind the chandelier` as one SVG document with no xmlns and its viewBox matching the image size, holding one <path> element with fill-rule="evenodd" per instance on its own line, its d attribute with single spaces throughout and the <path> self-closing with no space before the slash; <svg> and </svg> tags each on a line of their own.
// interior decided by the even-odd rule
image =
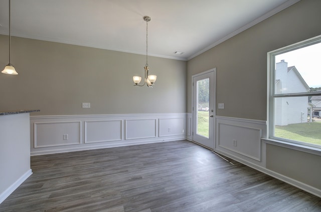
<svg viewBox="0 0 321 212">
<path fill-rule="evenodd" d="M 8 36 L 0 35 L 0 68 L 9 61 Z M 38 108 L 31 115 L 186 112 L 187 62 L 148 56 L 153 88 L 134 87 L 145 56 L 12 37 L 19 75 L 0 74 L 0 111 Z M 91 108 L 81 108 L 90 102 Z"/>
</svg>

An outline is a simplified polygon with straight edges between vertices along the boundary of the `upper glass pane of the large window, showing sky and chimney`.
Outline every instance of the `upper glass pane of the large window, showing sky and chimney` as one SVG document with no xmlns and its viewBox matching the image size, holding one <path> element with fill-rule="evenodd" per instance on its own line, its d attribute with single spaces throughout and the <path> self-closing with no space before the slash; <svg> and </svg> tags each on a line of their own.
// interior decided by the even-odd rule
<svg viewBox="0 0 321 212">
<path fill-rule="evenodd" d="M 275 94 L 321 89 L 321 43 L 275 55 Z"/>
</svg>

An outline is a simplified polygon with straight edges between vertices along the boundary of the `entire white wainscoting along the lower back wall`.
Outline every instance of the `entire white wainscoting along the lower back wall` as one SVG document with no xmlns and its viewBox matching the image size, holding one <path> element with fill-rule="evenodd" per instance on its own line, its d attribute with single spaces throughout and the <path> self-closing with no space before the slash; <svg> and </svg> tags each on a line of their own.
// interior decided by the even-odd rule
<svg viewBox="0 0 321 212">
<path fill-rule="evenodd" d="M 187 113 L 31 116 L 30 151 L 31 155 L 39 155 L 183 140 L 186 116 Z M 67 140 L 64 134 L 68 134 Z"/>
</svg>

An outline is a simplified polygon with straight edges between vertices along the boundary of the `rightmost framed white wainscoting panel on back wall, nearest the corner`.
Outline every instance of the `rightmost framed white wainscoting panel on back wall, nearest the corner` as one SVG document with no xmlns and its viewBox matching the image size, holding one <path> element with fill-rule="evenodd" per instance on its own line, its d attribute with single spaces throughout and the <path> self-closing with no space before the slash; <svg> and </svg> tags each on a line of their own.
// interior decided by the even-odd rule
<svg viewBox="0 0 321 212">
<path fill-rule="evenodd" d="M 159 137 L 185 134 L 185 118 L 159 118 Z"/>
</svg>

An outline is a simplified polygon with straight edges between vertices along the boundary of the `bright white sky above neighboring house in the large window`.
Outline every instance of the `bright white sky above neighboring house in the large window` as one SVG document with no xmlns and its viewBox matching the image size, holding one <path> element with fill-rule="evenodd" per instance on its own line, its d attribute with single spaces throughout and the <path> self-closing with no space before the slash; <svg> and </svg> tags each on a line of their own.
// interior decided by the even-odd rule
<svg viewBox="0 0 321 212">
<path fill-rule="evenodd" d="M 275 56 L 295 66 L 309 87 L 321 87 L 321 42 Z"/>
</svg>

